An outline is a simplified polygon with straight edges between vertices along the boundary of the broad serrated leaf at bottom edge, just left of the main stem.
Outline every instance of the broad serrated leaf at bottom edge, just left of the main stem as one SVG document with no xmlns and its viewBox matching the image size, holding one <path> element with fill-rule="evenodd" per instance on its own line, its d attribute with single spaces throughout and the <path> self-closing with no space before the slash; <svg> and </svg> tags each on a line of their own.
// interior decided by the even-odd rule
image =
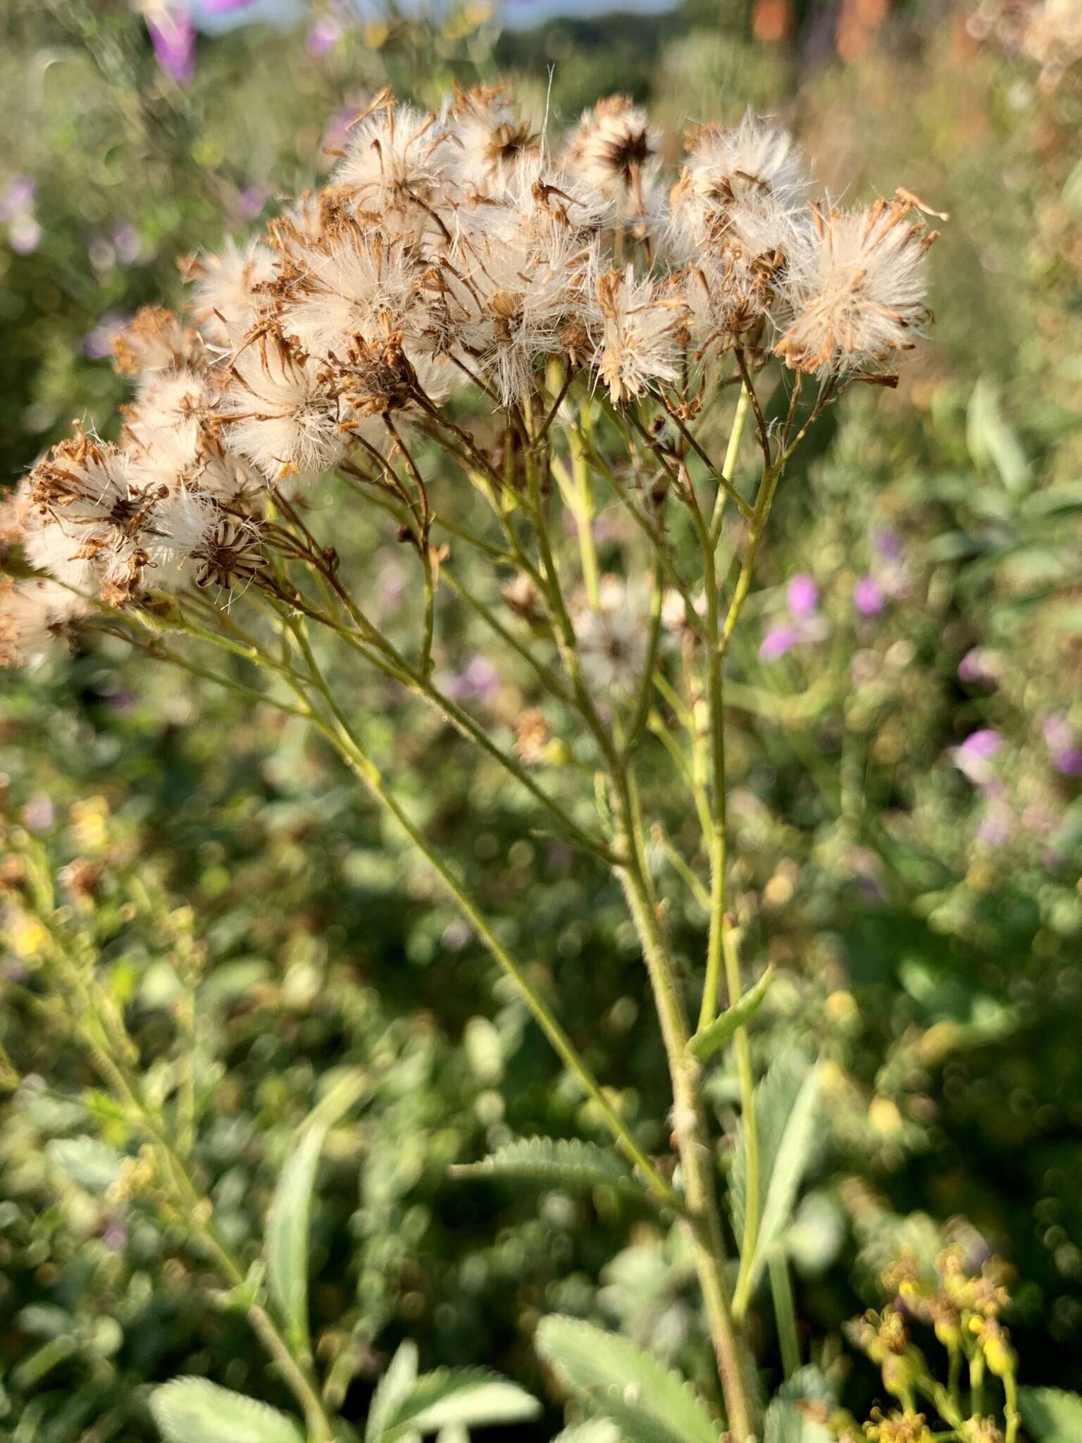
<svg viewBox="0 0 1082 1443">
<path fill-rule="evenodd" d="M 678 1372 L 617 1333 L 577 1317 L 544 1317 L 535 1345 L 626 1443 L 717 1443 L 718 1426 Z"/>
</svg>

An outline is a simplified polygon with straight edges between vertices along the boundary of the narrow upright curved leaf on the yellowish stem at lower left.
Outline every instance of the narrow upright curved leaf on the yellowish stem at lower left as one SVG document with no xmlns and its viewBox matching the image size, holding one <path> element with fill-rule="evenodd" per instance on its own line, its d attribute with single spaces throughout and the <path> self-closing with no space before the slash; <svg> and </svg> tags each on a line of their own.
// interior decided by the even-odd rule
<svg viewBox="0 0 1082 1443">
<path fill-rule="evenodd" d="M 270 1289 L 286 1317 L 291 1342 L 303 1348 L 309 1345 L 309 1219 L 316 1165 L 327 1133 L 365 1087 L 364 1074 L 349 1071 L 309 1113 L 297 1128 L 267 1214 L 263 1251 Z"/>
</svg>

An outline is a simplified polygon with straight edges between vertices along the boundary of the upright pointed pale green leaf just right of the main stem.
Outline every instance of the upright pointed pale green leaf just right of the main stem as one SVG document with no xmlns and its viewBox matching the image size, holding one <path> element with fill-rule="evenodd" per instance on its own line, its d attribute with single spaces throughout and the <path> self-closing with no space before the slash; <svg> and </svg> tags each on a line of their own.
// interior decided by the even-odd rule
<svg viewBox="0 0 1082 1443">
<path fill-rule="evenodd" d="M 759 1196 L 762 1214 L 755 1257 L 744 1263 L 750 1296 L 766 1260 L 779 1245 L 792 1219 L 801 1179 L 815 1140 L 819 1101 L 819 1071 L 802 1059 L 782 1056 L 756 1088 L 759 1124 Z M 730 1173 L 730 1196 L 737 1237 L 744 1232 L 747 1208 L 747 1154 L 743 1126 Z"/>
</svg>

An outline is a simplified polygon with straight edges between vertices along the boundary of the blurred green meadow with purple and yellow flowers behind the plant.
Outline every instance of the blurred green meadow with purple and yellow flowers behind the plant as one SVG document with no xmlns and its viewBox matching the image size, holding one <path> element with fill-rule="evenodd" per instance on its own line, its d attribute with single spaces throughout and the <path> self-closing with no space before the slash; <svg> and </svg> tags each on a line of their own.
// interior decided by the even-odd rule
<svg viewBox="0 0 1082 1443">
<path fill-rule="evenodd" d="M 72 417 L 107 426 L 124 398 L 111 333 L 179 297 L 179 255 L 320 183 L 325 150 L 388 82 L 436 104 L 508 75 L 563 123 L 625 89 L 674 153 L 688 120 L 752 104 L 792 124 L 822 180 L 874 193 L 903 177 L 951 214 L 905 394 L 851 397 L 775 508 L 730 694 L 736 905 L 779 971 L 755 1045 L 827 1061 L 789 1240 L 824 1356 L 879 1300 L 899 1238 L 965 1218 L 1016 1271 L 1023 1380 L 1082 1390 L 1081 68 L 1024 43 L 1019 4 L 687 0 L 537 26 L 524 4 L 506 26 L 482 4 L 427 20 L 297 6 L 280 25 L 203 9 L 190 55 L 156 51 L 121 0 L 0 14 L 1 485 Z M 391 612 L 400 548 L 348 524 L 374 610 Z M 478 642 L 463 613 L 441 665 L 509 734 L 522 698 Z M 404 1338 L 426 1367 L 491 1364 L 544 1395 L 529 1339 L 553 1310 L 708 1369 L 675 1232 L 603 1189 L 449 1172 L 509 1137 L 596 1127 L 317 742 L 120 648 L 0 688 L 3 817 L 56 867 L 100 869 L 79 925 L 147 1055 L 177 965 L 202 967 L 198 1159 L 238 1251 L 319 1079 L 366 1071 L 313 1219 L 316 1336 L 346 1411 L 364 1417 Z M 365 726 L 421 769 L 418 815 L 664 1149 L 664 1058 L 613 885 L 522 840 L 519 799 L 449 727 Z M 694 900 L 672 924 L 694 955 Z M 32 952 L 27 938 L 0 957 L 0 1437 L 149 1440 L 147 1384 L 185 1372 L 281 1403 L 244 1320 L 195 1287 L 179 1224 L 118 1186 L 130 1139 L 35 1009 Z M 734 1097 L 717 1076 L 718 1115 Z M 853 1361 L 847 1403 L 874 1394 Z M 557 1426 L 553 1410 L 516 1431 Z"/>
</svg>

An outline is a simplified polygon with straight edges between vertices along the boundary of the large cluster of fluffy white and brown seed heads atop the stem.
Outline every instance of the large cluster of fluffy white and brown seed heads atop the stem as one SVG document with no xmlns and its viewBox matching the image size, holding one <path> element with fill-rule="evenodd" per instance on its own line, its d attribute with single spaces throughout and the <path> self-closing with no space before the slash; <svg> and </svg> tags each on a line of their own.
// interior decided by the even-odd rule
<svg viewBox="0 0 1082 1443">
<path fill-rule="evenodd" d="M 0 590 L 0 662 L 95 605 L 273 586 L 270 496 L 446 436 L 447 401 L 544 416 L 554 365 L 616 410 L 684 416 L 733 351 L 821 384 L 889 372 L 928 319 L 935 232 L 907 192 L 843 211 L 808 190 L 750 114 L 690 131 L 667 176 L 625 97 L 557 149 L 503 89 L 440 114 L 378 95 L 326 189 L 182 261 L 188 316 L 149 306 L 118 336 L 120 440 L 76 427 L 3 505 L 0 545 L 40 574 Z"/>
</svg>

